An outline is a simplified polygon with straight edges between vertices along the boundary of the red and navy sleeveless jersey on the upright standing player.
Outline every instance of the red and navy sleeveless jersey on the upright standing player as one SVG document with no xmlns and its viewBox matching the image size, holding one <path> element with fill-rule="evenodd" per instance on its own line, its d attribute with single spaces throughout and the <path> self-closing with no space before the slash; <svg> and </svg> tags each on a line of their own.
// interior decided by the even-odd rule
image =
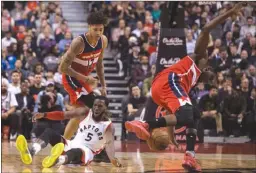
<svg viewBox="0 0 256 173">
<path fill-rule="evenodd" d="M 83 51 L 75 57 L 71 68 L 83 75 L 89 75 L 95 68 L 103 50 L 103 39 L 100 37 L 95 46 L 90 45 L 85 34 L 80 35 L 84 41 Z"/>
</svg>

